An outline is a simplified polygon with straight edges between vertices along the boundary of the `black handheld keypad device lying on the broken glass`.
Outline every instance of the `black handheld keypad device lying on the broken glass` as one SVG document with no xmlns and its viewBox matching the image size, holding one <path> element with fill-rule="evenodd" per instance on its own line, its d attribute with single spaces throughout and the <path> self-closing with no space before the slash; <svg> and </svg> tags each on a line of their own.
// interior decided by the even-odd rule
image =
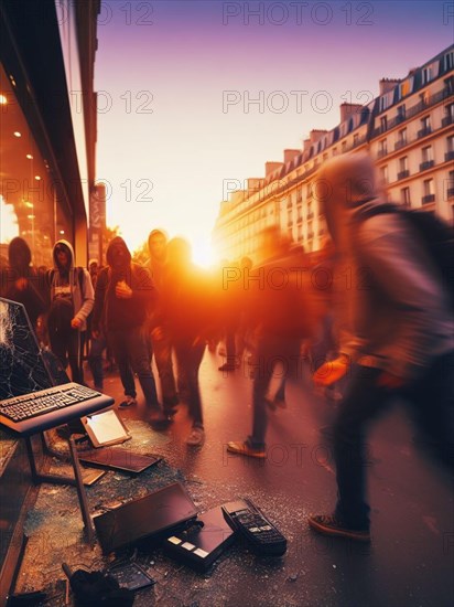
<svg viewBox="0 0 454 607">
<path fill-rule="evenodd" d="M 287 551 L 285 537 L 251 500 L 228 502 L 223 512 L 231 529 L 239 530 L 256 552 L 281 556 Z"/>
</svg>

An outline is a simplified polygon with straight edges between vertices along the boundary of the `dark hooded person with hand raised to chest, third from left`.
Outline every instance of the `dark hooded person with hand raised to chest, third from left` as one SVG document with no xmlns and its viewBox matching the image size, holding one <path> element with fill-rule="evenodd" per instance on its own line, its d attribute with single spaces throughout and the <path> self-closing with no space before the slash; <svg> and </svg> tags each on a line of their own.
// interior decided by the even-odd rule
<svg viewBox="0 0 454 607">
<path fill-rule="evenodd" d="M 125 241 L 117 236 L 107 247 L 108 266 L 98 274 L 91 331 L 101 329 L 112 348 L 125 395 L 136 401 L 133 373 L 145 397 L 148 417 L 154 429 L 163 429 L 169 418 L 158 401 L 150 366 L 147 317 L 155 305 L 156 291 L 147 268 L 133 263 Z"/>
</svg>

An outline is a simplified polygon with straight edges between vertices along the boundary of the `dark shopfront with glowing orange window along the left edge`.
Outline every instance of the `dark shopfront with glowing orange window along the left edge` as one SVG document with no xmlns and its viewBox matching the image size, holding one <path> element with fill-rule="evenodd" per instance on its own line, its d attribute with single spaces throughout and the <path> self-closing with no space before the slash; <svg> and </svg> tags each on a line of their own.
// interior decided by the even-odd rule
<svg viewBox="0 0 454 607">
<path fill-rule="evenodd" d="M 35 266 L 55 241 L 86 265 L 95 190 L 94 64 L 100 0 L 1 0 L 0 254 L 22 236 Z"/>
</svg>

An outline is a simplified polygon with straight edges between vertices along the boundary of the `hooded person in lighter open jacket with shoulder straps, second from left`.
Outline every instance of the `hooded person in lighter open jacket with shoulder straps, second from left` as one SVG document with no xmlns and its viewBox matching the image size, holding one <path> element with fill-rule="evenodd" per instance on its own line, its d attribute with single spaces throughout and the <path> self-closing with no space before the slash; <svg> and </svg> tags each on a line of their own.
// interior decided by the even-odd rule
<svg viewBox="0 0 454 607">
<path fill-rule="evenodd" d="M 73 382 L 83 384 L 84 337 L 94 305 L 91 279 L 87 269 L 74 266 L 74 249 L 67 241 L 55 243 L 52 257 L 54 269 L 48 271 L 51 308 L 47 315 L 51 350 L 64 369 L 69 362 Z"/>
</svg>

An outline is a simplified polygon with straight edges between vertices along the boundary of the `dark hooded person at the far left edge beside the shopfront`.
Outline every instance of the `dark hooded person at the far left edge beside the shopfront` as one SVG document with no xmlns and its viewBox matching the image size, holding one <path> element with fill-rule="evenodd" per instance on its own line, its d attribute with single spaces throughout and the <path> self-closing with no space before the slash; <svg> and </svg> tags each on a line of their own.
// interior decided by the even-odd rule
<svg viewBox="0 0 454 607">
<path fill-rule="evenodd" d="M 1 297 L 23 303 L 32 326 L 36 329 L 39 318 L 48 307 L 45 275 L 32 265 L 32 254 L 26 242 L 20 236 L 8 246 L 8 266 L 2 268 L 0 280 Z"/>
</svg>

